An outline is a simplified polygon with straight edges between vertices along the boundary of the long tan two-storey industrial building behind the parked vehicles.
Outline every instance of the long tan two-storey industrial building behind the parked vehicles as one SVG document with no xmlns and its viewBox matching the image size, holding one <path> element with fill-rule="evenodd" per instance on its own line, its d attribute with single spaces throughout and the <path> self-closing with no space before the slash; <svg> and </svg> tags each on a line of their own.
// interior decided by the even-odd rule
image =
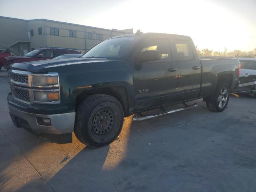
<svg viewBox="0 0 256 192">
<path fill-rule="evenodd" d="M 59 22 L 47 19 L 23 20 L 0 16 L 0 50 L 24 55 L 36 48 L 71 48 L 82 53 L 108 38 L 133 33 Z"/>
</svg>

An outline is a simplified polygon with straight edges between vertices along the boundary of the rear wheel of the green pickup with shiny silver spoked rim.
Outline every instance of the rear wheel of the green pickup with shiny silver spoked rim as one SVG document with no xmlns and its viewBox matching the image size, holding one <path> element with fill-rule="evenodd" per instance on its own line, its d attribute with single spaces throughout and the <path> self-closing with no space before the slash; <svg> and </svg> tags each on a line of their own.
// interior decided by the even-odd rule
<svg viewBox="0 0 256 192">
<path fill-rule="evenodd" d="M 218 82 L 212 97 L 206 99 L 206 106 L 210 111 L 222 112 L 228 105 L 230 90 L 226 83 Z"/>
</svg>

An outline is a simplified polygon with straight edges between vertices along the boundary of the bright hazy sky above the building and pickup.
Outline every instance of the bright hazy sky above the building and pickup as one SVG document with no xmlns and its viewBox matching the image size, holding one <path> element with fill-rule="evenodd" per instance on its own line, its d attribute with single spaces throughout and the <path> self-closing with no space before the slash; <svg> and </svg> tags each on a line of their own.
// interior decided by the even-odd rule
<svg viewBox="0 0 256 192">
<path fill-rule="evenodd" d="M 0 0 L 0 16 L 182 34 L 198 48 L 256 48 L 256 0 Z"/>
</svg>

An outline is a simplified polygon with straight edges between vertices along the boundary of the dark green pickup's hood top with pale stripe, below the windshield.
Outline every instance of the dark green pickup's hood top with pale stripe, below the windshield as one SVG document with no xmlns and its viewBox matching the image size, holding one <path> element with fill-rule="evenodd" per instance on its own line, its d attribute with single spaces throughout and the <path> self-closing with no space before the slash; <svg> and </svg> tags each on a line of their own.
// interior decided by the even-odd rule
<svg viewBox="0 0 256 192">
<path fill-rule="evenodd" d="M 106 58 L 69 58 L 58 60 L 41 60 L 34 62 L 14 63 L 11 69 L 29 71 L 33 73 L 47 73 L 48 68 L 52 67 L 107 61 L 109 60 Z"/>
</svg>

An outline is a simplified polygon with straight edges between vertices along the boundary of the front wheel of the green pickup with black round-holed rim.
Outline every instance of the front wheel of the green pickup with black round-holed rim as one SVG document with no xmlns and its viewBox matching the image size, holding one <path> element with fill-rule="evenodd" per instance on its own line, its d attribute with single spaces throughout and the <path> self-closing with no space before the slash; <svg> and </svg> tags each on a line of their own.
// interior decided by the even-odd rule
<svg viewBox="0 0 256 192">
<path fill-rule="evenodd" d="M 98 148 L 112 143 L 123 123 L 124 110 L 120 102 L 110 95 L 96 94 L 79 104 L 74 133 L 86 146 Z"/>
</svg>

